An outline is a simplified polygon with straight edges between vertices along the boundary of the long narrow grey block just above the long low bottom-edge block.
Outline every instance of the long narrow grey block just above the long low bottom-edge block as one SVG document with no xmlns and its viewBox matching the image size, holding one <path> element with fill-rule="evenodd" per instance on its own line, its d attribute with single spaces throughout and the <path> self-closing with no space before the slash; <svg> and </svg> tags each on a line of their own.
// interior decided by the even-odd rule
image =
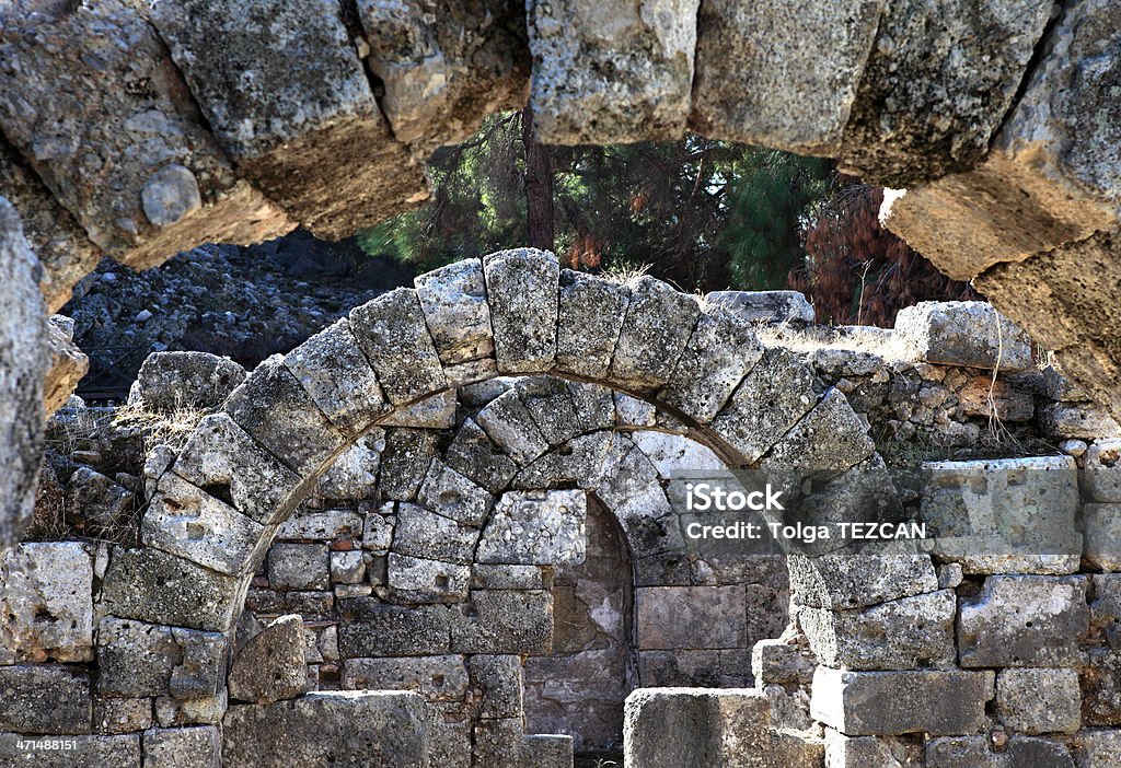
<svg viewBox="0 0 1121 768">
<path fill-rule="evenodd" d="M 349 658 L 343 664 L 348 689 L 415 691 L 427 701 L 462 701 L 469 677 L 463 656 Z"/>
</svg>

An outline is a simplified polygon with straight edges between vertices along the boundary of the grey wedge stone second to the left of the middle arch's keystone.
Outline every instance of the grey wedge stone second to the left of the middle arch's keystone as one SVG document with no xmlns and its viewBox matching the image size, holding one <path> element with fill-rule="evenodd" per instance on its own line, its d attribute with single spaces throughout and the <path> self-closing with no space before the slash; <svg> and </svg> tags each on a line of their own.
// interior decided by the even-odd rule
<svg viewBox="0 0 1121 768">
<path fill-rule="evenodd" d="M 352 309 L 350 324 L 393 405 L 406 405 L 447 386 L 416 291 L 398 288 L 382 293 Z"/>
</svg>

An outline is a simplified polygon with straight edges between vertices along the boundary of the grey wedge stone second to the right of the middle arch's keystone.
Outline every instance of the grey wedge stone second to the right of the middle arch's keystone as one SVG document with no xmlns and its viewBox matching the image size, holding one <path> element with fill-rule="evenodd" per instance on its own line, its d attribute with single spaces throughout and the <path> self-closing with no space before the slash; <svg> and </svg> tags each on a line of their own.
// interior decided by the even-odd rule
<svg viewBox="0 0 1121 768">
<path fill-rule="evenodd" d="M 695 297 L 649 275 L 636 280 L 630 289 L 610 377 L 629 387 L 659 387 L 674 373 L 701 307 Z"/>
</svg>

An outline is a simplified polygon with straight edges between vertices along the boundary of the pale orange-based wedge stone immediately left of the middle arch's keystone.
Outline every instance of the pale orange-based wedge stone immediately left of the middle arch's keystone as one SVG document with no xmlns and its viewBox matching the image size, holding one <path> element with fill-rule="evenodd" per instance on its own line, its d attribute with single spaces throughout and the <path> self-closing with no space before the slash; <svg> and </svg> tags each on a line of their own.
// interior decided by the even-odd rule
<svg viewBox="0 0 1121 768">
<path fill-rule="evenodd" d="M 427 272 L 414 284 L 441 363 L 456 365 L 493 355 L 494 335 L 479 259 Z"/>
</svg>

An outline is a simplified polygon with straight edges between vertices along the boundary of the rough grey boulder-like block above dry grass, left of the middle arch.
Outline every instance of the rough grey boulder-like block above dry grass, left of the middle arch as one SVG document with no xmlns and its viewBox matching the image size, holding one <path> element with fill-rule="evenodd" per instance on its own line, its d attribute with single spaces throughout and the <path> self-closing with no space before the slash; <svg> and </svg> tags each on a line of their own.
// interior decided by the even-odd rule
<svg viewBox="0 0 1121 768">
<path fill-rule="evenodd" d="M 222 405 L 244 380 L 245 369 L 229 357 L 205 352 L 157 352 L 140 366 L 129 402 L 169 413 L 212 409 Z"/>
</svg>

